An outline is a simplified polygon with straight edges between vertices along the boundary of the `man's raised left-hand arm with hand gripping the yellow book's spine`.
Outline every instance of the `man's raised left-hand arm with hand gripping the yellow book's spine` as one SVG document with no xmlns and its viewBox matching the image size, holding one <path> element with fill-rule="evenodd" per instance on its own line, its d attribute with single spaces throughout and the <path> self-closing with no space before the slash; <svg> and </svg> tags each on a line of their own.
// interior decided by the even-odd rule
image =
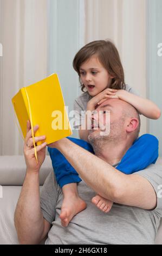
<svg viewBox="0 0 162 256">
<path fill-rule="evenodd" d="M 34 132 L 37 129 L 38 127 L 35 126 Z M 42 136 L 35 137 L 35 142 L 42 140 Z M 46 156 L 46 143 L 36 147 L 38 163 L 32 143 L 33 139 L 28 123 L 27 137 L 24 143 L 27 172 L 15 210 L 15 227 L 18 240 L 22 244 L 40 243 L 50 229 L 50 223 L 44 220 L 40 206 L 39 170 Z"/>
</svg>

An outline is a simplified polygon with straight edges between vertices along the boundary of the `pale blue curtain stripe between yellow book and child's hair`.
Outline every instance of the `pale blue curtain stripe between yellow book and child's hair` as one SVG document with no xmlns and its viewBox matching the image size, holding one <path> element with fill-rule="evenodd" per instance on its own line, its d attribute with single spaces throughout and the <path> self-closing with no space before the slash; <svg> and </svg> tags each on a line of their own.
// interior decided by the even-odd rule
<svg viewBox="0 0 162 256">
<path fill-rule="evenodd" d="M 48 0 L 48 74 L 59 75 L 68 113 L 81 94 L 73 69 L 76 52 L 85 45 L 85 4 L 83 0 Z M 69 117 L 72 120 L 72 117 Z M 78 131 L 73 130 L 73 137 Z"/>
</svg>

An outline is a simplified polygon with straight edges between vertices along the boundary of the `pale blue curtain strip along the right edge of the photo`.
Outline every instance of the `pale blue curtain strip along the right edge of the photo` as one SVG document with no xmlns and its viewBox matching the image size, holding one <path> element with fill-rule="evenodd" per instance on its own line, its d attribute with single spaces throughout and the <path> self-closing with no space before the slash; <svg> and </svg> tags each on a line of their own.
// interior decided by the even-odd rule
<svg viewBox="0 0 162 256">
<path fill-rule="evenodd" d="M 162 57 L 158 55 L 158 45 L 162 43 L 162 1 L 147 0 L 147 84 L 148 96 L 157 103 L 162 112 Z M 159 139 L 159 155 L 162 156 L 162 116 L 158 120 L 149 120 L 149 132 Z"/>
</svg>

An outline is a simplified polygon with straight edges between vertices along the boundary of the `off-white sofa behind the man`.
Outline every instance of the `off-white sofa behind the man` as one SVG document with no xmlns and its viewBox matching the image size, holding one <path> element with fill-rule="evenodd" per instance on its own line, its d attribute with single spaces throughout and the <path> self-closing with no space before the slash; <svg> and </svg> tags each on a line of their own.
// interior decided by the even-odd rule
<svg viewBox="0 0 162 256">
<path fill-rule="evenodd" d="M 158 161 L 162 166 L 162 159 Z M 23 156 L 0 156 L 0 245 L 18 244 L 14 211 L 23 184 L 25 168 Z M 46 156 L 40 170 L 40 186 L 51 170 L 53 167 L 50 157 Z M 162 245 L 162 221 L 155 243 Z"/>
</svg>

